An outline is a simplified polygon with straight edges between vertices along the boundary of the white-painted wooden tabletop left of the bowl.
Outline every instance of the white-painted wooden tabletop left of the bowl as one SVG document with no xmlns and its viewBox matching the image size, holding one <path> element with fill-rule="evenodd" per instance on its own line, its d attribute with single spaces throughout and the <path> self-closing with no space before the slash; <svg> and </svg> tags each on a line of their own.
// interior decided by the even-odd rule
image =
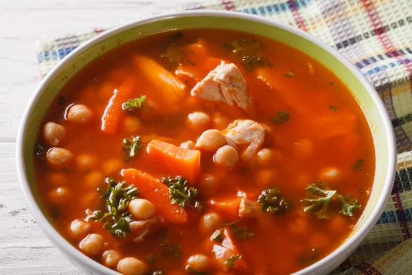
<svg viewBox="0 0 412 275">
<path fill-rule="evenodd" d="M 43 234 L 16 177 L 21 115 L 41 77 L 35 41 L 198 0 L 0 0 L 0 274 L 81 274 Z"/>
</svg>

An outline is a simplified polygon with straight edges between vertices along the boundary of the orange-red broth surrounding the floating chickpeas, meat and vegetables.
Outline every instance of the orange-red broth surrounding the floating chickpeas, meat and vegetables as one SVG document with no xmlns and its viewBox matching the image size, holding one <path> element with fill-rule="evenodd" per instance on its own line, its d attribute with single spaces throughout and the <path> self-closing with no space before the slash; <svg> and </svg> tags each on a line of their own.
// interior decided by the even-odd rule
<svg viewBox="0 0 412 275">
<path fill-rule="evenodd" d="M 374 180 L 375 153 L 371 130 L 361 107 L 333 72 L 293 47 L 229 30 L 185 30 L 181 34 L 166 32 L 148 36 L 103 54 L 69 80 L 56 102 L 50 105 L 41 125 L 52 121 L 64 126 L 67 135 L 58 146 L 71 151 L 74 157 L 63 168 L 49 165 L 46 159 L 35 159 L 38 190 L 60 234 L 80 249 L 82 238 L 73 237 L 70 224 L 75 219 L 87 219 L 87 210 L 104 206 L 105 199 L 100 198 L 101 192 L 97 190 L 106 190 L 104 177 L 122 181 L 122 169 L 126 168 L 136 168 L 157 179 L 172 175 L 159 159 L 150 157 L 146 146 L 139 148 L 135 157 L 126 159 L 122 151 L 125 138 L 131 140 L 140 135 L 141 143 L 146 145 L 159 139 L 179 146 L 187 140 L 196 142 L 207 129 L 222 130 L 233 120 L 249 119 L 270 128 L 262 146 L 271 150 L 270 161 L 262 165 L 255 156 L 227 168 L 214 164 L 213 153 L 201 150 L 201 175 L 189 185 L 198 188 L 203 210 L 196 212 L 185 208 L 186 223 L 155 225 L 140 243 L 134 243 L 129 236 L 126 239 L 113 236 L 102 223 L 93 221 L 89 221 L 90 233 L 104 237 L 105 250 L 110 248 L 122 257 L 135 257 L 146 264 L 146 271 L 165 270 L 165 274 L 190 274 L 186 270 L 186 261 L 193 254 L 204 254 L 209 258 L 207 274 L 262 275 L 297 272 L 330 254 L 350 235 L 362 210 L 347 217 L 338 213 L 341 208 L 335 200 L 328 211 L 328 219 L 317 219 L 312 213 L 304 212 L 301 199 L 307 197 L 306 187 L 323 179 L 323 171 L 332 167 L 339 171 L 338 175 L 323 180 L 330 181 L 330 187 L 340 194 L 358 199 L 362 209 L 366 206 L 367 191 Z M 227 47 L 227 43 L 239 38 L 258 41 L 264 63 L 245 69 L 238 55 Z M 185 83 L 185 94 L 177 102 L 168 104 L 168 98 L 160 96 L 158 88 L 139 72 L 135 56 L 152 58 L 175 74 L 178 62 L 171 62 L 165 54 L 171 41 L 185 49 L 181 69 L 197 78 L 179 76 Z M 201 43 L 206 55 L 219 62 L 216 64 L 212 59 L 203 63 L 201 54 L 187 50 L 188 45 L 196 43 Z M 192 87 L 220 60 L 234 63 L 242 72 L 253 100 L 251 111 L 190 95 Z M 286 76 L 288 73 L 293 76 Z M 120 92 L 127 89 L 130 97 L 126 99 L 146 95 L 147 100 L 142 109 L 122 113 L 113 133 L 104 133 L 101 118 L 114 89 Z M 65 111 L 70 104 L 89 107 L 93 111 L 93 120 L 89 124 L 68 121 Z M 211 122 L 205 126 L 192 126 L 187 122 L 187 115 L 194 111 L 207 113 Z M 271 121 L 278 111 L 290 114 L 287 122 L 277 124 Z M 220 115 L 223 122 L 216 124 L 216 115 Z M 39 131 L 38 142 L 47 144 L 41 133 Z M 50 147 L 46 145 L 46 148 Z M 84 155 L 94 160 L 79 164 L 78 157 Z M 354 166 L 358 159 L 364 159 L 361 168 Z M 207 186 L 201 180 L 205 174 L 213 175 L 217 184 Z M 216 212 L 207 201 L 237 197 L 239 192 L 256 201 L 268 187 L 277 188 L 283 197 L 292 199 L 293 208 L 279 216 L 262 212 L 257 218 L 242 218 L 238 225 L 246 226 L 254 236 L 250 239 L 233 239 L 232 236 L 231 239 L 238 254 L 242 255 L 245 267 L 234 265 L 232 269 L 219 264 L 212 252 L 214 243 L 210 238 L 213 232 L 205 233 L 199 228 L 203 214 Z M 54 198 L 56 188 L 65 188 L 65 195 Z M 220 217 L 222 223 L 240 220 L 224 214 Z M 231 227 L 225 228 L 230 230 Z M 183 256 L 176 261 L 162 254 L 159 234 L 164 232 L 168 232 L 173 243 L 181 245 Z M 158 255 L 154 265 L 147 262 L 148 254 Z M 102 253 L 91 256 L 98 262 L 101 257 Z"/>
</svg>

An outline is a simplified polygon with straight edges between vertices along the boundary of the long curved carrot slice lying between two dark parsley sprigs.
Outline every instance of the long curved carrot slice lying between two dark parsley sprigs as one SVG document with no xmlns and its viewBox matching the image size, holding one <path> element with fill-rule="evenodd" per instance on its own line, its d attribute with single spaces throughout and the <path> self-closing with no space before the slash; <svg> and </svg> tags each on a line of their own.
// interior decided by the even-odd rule
<svg viewBox="0 0 412 275">
<path fill-rule="evenodd" d="M 185 210 L 170 201 L 168 186 L 159 179 L 136 169 L 123 170 L 124 180 L 139 188 L 139 196 L 148 199 L 155 206 L 157 214 L 170 223 L 185 223 Z"/>
</svg>

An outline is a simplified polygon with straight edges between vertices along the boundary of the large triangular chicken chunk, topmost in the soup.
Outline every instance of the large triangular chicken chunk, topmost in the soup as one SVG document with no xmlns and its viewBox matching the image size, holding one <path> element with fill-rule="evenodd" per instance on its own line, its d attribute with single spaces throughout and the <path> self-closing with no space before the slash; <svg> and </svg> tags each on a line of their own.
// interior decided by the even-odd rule
<svg viewBox="0 0 412 275">
<path fill-rule="evenodd" d="M 225 61 L 197 83 L 191 94 L 205 100 L 225 102 L 230 106 L 236 104 L 244 110 L 252 102 L 242 73 L 236 65 L 226 64 Z"/>
</svg>

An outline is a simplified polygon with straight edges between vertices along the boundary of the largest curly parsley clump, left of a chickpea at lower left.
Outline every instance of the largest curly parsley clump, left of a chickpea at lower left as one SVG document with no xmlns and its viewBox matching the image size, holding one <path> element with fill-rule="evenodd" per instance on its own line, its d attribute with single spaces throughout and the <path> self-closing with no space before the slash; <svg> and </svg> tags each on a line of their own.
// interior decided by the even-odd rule
<svg viewBox="0 0 412 275">
<path fill-rule="evenodd" d="M 104 228 L 113 235 L 124 238 L 130 233 L 129 223 L 133 221 L 128 212 L 128 204 L 136 199 L 139 190 L 133 186 L 126 186 L 126 181 L 118 184 L 111 178 L 106 178 L 108 188 L 102 199 L 106 199 L 106 210 L 96 210 L 89 217 L 91 221 L 103 222 Z"/>
</svg>

